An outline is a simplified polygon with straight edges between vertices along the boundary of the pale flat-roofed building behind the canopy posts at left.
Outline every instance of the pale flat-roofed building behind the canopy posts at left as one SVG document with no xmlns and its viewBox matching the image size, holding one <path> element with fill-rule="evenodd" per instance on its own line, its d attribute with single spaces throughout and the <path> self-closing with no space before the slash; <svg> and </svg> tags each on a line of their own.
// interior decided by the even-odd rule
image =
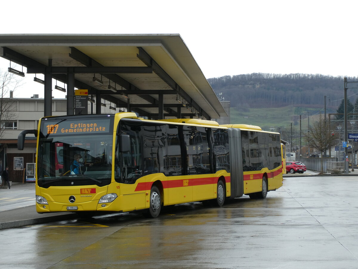
<svg viewBox="0 0 358 269">
<path fill-rule="evenodd" d="M 22 182 L 25 179 L 26 164 L 35 163 L 36 140 L 25 140 L 24 150 L 18 150 L 18 135 L 21 131 L 27 129 L 37 129 L 39 119 L 44 116 L 44 98 L 39 98 L 38 94 L 34 94 L 30 98 L 3 98 L 9 108 L 6 121 L 4 121 L 4 131 L 0 135 L 1 151 L 0 151 L 0 169 L 4 170 L 9 167 L 10 180 L 13 182 Z M 121 108 L 111 109 L 111 104 L 107 100 L 101 100 L 101 113 L 112 114 L 123 112 Z M 122 108 L 124 109 L 124 108 Z M 52 115 L 66 115 L 67 99 L 52 99 Z M 96 114 L 96 106 L 88 102 L 88 114 Z M 15 163 L 22 160 L 21 163 Z"/>
</svg>

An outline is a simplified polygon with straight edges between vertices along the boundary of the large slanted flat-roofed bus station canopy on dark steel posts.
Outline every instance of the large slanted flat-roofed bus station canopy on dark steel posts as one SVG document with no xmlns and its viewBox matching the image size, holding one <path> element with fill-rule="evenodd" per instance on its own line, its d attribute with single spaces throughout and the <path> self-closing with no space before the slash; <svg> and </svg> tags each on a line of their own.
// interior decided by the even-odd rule
<svg viewBox="0 0 358 269">
<path fill-rule="evenodd" d="M 140 117 L 227 116 L 179 34 L 0 34 L 0 56 L 45 74 L 45 107 L 66 83 L 68 114 L 77 88 Z"/>
</svg>

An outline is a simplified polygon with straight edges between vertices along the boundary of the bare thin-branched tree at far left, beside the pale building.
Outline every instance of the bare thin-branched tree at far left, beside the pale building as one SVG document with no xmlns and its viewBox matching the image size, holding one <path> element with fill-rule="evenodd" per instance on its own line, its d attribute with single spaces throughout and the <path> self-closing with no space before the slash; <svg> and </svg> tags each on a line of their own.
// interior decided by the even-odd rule
<svg viewBox="0 0 358 269">
<path fill-rule="evenodd" d="M 9 129 L 9 124 L 16 120 L 16 108 L 14 107 L 13 93 L 16 88 L 22 85 L 22 78 L 0 69 L 0 140 L 3 139 L 5 132 Z M 0 144 L 0 151 L 4 144 Z"/>
</svg>

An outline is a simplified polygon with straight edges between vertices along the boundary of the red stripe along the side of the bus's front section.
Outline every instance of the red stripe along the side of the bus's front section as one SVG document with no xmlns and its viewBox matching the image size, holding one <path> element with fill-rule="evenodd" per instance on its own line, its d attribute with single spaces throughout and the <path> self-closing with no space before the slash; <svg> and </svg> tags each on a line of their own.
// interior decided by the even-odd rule
<svg viewBox="0 0 358 269">
<path fill-rule="evenodd" d="M 227 176 L 226 183 L 230 182 L 230 177 Z M 178 188 L 178 187 L 188 187 L 188 186 L 200 186 L 200 185 L 209 185 L 209 184 L 216 184 L 218 178 L 190 178 L 190 179 L 175 179 L 175 180 L 168 180 L 168 181 L 161 181 L 163 184 L 164 189 L 168 188 Z M 135 192 L 150 190 L 153 182 L 140 182 L 137 184 L 135 188 Z"/>
</svg>

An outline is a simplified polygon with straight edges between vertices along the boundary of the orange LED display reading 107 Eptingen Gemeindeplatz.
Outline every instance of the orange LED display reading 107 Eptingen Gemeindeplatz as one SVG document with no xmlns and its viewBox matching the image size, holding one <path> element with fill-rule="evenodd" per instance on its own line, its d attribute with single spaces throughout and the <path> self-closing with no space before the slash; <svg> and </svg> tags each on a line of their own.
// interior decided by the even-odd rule
<svg viewBox="0 0 358 269">
<path fill-rule="evenodd" d="M 42 132 L 48 135 L 84 135 L 90 133 L 108 133 L 110 131 L 110 119 L 70 120 L 61 119 L 43 120 Z"/>
</svg>

